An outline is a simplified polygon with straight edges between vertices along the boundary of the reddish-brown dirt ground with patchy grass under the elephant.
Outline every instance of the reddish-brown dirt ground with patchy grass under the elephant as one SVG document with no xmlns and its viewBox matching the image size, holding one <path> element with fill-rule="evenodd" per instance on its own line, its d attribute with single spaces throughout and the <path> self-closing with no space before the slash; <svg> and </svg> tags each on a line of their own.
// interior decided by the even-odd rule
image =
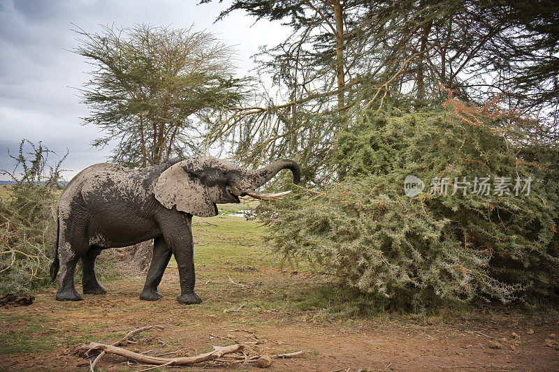
<svg viewBox="0 0 559 372">
<path fill-rule="evenodd" d="M 87 359 L 73 352 L 77 345 L 112 343 L 131 329 L 161 325 L 164 330 L 140 334 L 126 348 L 174 357 L 207 352 L 212 345 L 259 341 L 249 345 L 252 353 L 304 351 L 275 359 L 271 371 L 559 371 L 557 312 L 489 306 L 421 319 L 331 315 L 324 308 L 337 299 L 317 295 L 324 283 L 271 264 L 253 222 L 221 218 L 215 225 L 206 221 L 216 220 L 199 220 L 194 227 L 196 290 L 202 304 L 176 302 L 179 286 L 173 262 L 160 286 L 164 298 L 157 302 L 138 299 L 143 276 L 105 282 L 106 295 L 85 295 L 75 303 L 56 302 L 52 288 L 36 295 L 31 306 L 0 308 L 0 369 L 87 371 Z M 239 234 L 216 236 L 221 228 Z M 102 371 L 147 368 L 110 355 L 98 366 Z M 258 369 L 254 364 L 234 368 Z"/>
</svg>

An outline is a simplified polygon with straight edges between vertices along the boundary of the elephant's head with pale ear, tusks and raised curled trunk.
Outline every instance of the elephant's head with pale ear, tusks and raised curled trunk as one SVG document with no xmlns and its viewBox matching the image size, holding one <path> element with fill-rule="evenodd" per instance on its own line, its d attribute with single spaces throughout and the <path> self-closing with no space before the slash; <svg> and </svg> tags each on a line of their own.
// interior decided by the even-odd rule
<svg viewBox="0 0 559 372">
<path fill-rule="evenodd" d="M 211 217 L 217 215 L 216 204 L 238 203 L 240 196 L 270 200 L 284 195 L 256 191 L 282 169 L 291 170 L 293 183 L 298 184 L 299 165 L 291 159 L 275 161 L 259 170 L 247 170 L 212 156 L 198 156 L 180 161 L 162 172 L 155 184 L 154 194 L 168 209 L 176 206 L 179 211 Z"/>
</svg>

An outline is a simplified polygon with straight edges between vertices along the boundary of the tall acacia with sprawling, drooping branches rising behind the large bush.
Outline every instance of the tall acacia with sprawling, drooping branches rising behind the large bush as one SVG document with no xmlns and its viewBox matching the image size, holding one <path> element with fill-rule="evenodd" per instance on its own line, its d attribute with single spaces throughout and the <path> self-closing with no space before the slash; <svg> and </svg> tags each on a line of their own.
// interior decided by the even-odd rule
<svg viewBox="0 0 559 372">
<path fill-rule="evenodd" d="M 448 87 L 474 103 L 504 92 L 509 108 L 556 112 L 558 10 L 527 3 L 535 10 L 497 0 L 233 1 L 221 17 L 244 10 L 293 32 L 257 56 L 280 98 L 230 107 L 209 137 L 233 142 L 247 163 L 295 157 L 312 185 L 340 174 L 329 161 L 335 138 L 361 109 L 422 110 L 444 102 Z M 557 141 L 543 129 L 535 137 Z"/>
</svg>

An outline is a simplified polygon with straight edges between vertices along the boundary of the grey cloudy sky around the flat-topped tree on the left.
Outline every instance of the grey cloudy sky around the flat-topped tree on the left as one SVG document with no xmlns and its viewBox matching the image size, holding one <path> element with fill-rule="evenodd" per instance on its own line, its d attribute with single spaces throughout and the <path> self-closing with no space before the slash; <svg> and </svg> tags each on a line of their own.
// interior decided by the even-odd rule
<svg viewBox="0 0 559 372">
<path fill-rule="evenodd" d="M 10 152 L 22 138 L 43 141 L 57 154 L 69 151 L 63 168 L 66 179 L 87 165 L 106 161 L 110 149 L 94 149 L 95 126 L 82 126 L 87 107 L 74 88 L 88 78 L 83 57 L 68 50 L 76 46 L 72 24 L 89 33 L 99 24 L 128 27 L 164 25 L 216 34 L 238 52 L 240 73 L 252 68 L 259 45 L 275 45 L 286 35 L 277 23 L 235 12 L 213 23 L 224 3 L 196 6 L 196 0 L 0 0 L 0 169 L 11 170 Z M 253 25 L 254 24 L 254 25 Z M 0 176 L 0 179 L 6 179 Z"/>
</svg>

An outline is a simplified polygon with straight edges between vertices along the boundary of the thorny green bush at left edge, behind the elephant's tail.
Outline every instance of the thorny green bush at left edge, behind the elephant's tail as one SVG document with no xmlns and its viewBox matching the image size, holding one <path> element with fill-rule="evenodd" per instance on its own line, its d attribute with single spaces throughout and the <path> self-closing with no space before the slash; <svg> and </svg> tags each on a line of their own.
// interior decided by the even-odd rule
<svg viewBox="0 0 559 372">
<path fill-rule="evenodd" d="M 0 199 L 0 292 L 22 291 L 48 283 L 56 223 L 51 206 L 60 188 L 60 165 L 48 165 L 54 154 L 41 142 L 22 140 L 8 197 Z"/>
</svg>

